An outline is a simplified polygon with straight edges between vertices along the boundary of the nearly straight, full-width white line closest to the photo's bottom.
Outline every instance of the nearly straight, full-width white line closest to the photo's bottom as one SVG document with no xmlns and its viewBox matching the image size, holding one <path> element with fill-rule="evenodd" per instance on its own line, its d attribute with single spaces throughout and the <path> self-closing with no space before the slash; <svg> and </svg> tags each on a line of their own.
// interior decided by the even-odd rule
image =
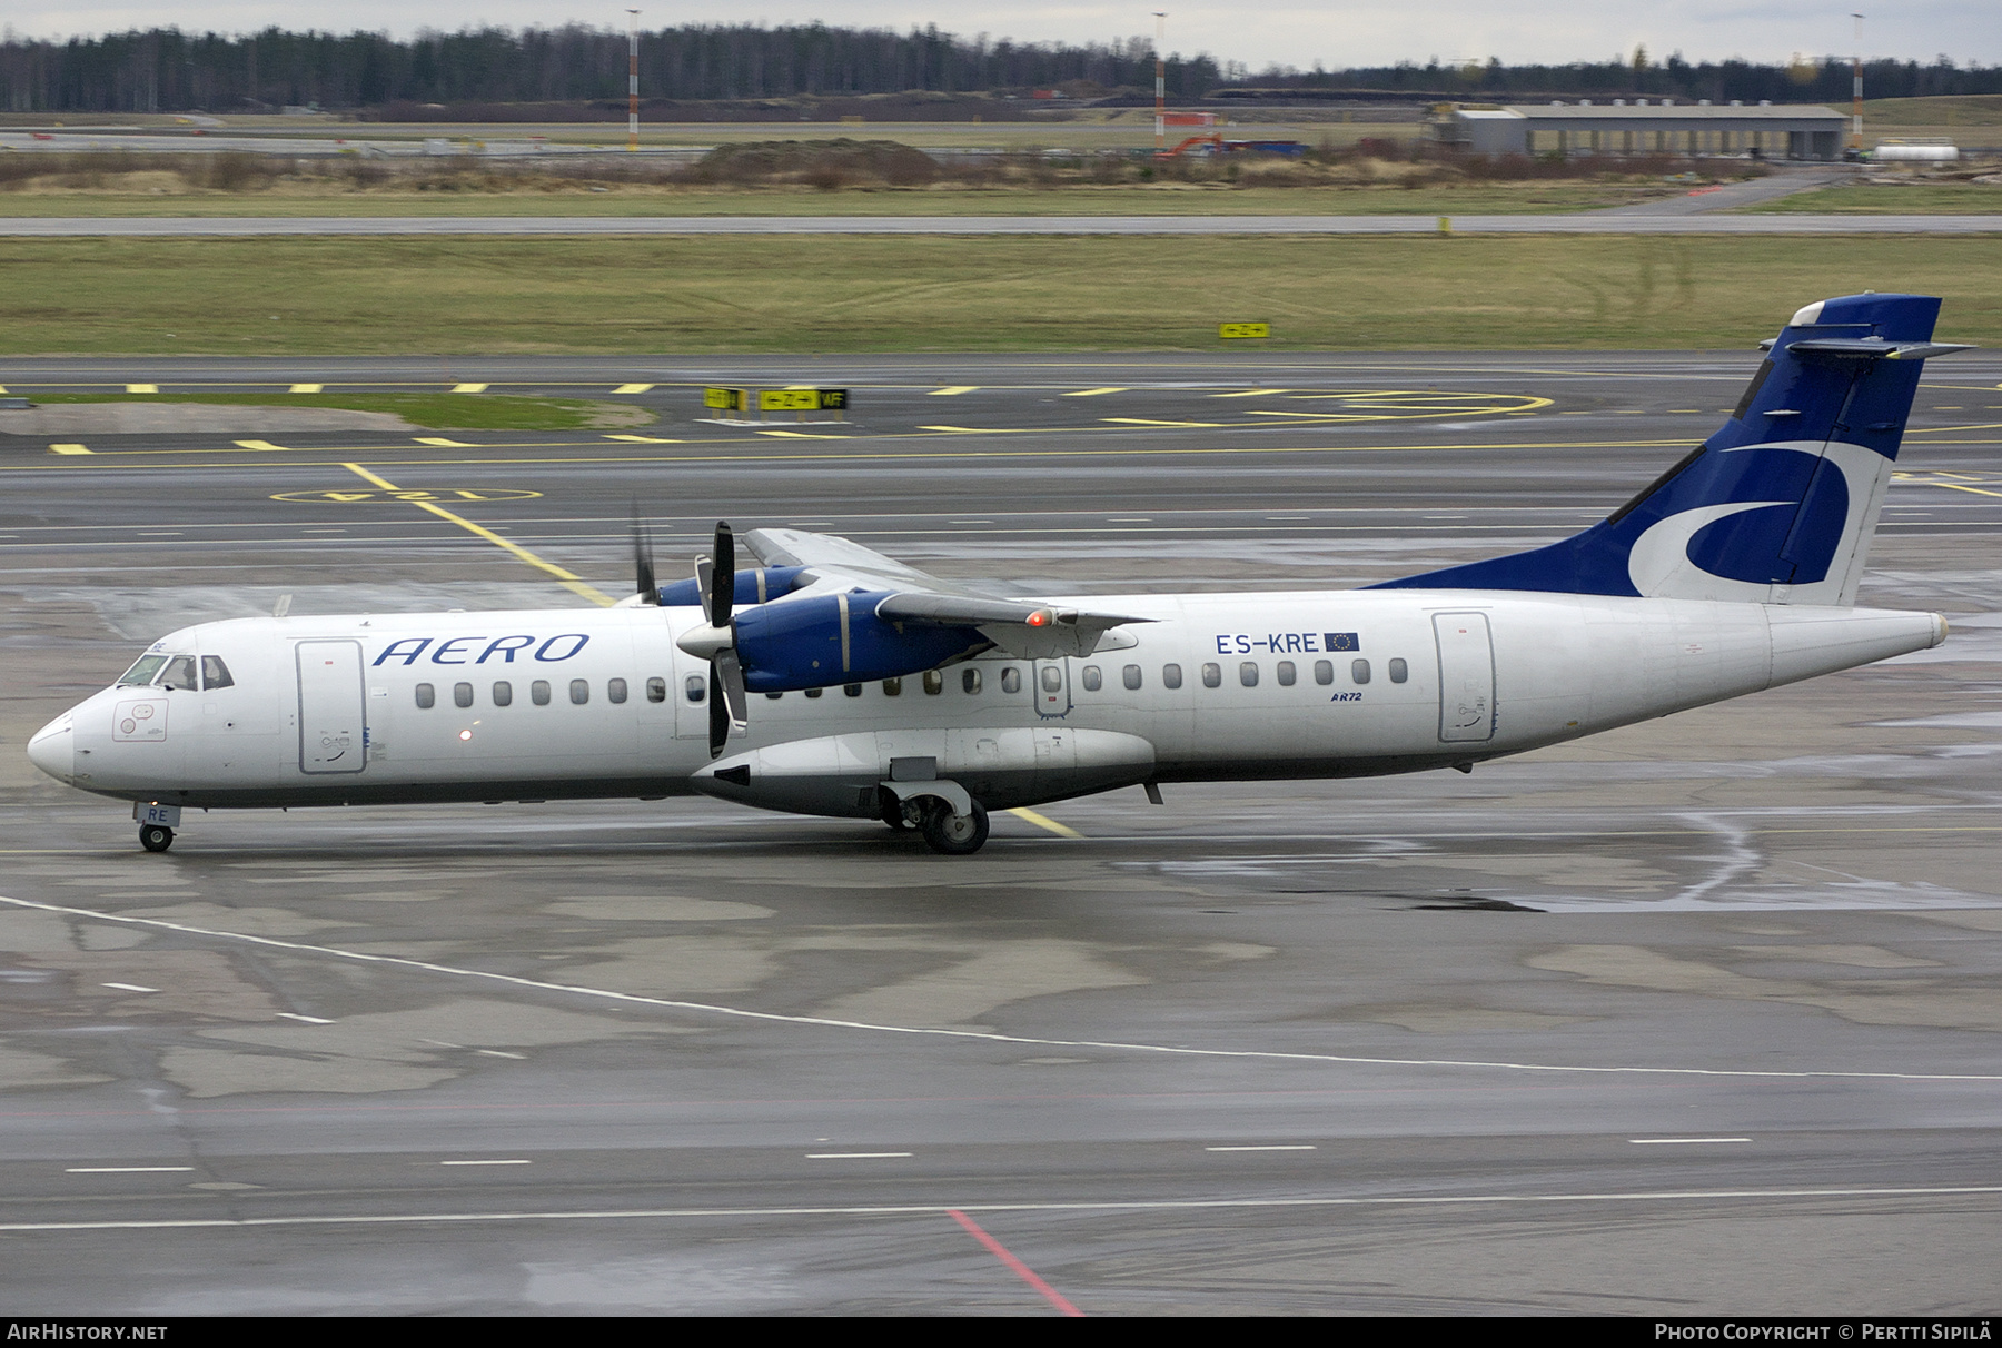
<svg viewBox="0 0 2002 1348">
<path fill-rule="evenodd" d="M 190 1166 L 192 1170 L 192 1166 Z M 1828 1198 L 1994 1198 L 2002 1184 L 1828 1190 L 1650 1190 L 1640 1194 L 1425 1194 L 1377 1198 L 1157 1198 L 1131 1202 L 957 1204 L 959 1212 L 1251 1212 L 1273 1208 L 1445 1208 L 1451 1204 L 1672 1204 L 1718 1200 Z M 412 1226 L 420 1222 L 635 1222 L 663 1218 L 883 1218 L 945 1216 L 939 1204 L 875 1204 L 853 1208 L 603 1208 L 595 1212 L 390 1212 L 378 1216 L 308 1218 L 164 1218 L 122 1222 L 0 1222 L 0 1232 L 148 1232 L 214 1226 Z"/>
</svg>

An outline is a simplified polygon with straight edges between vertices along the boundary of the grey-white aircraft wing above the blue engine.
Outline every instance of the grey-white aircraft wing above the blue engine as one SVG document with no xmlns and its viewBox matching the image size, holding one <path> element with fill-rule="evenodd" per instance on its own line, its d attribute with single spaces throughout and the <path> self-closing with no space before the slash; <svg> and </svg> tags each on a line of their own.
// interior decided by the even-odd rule
<svg viewBox="0 0 2002 1348">
<path fill-rule="evenodd" d="M 889 595 L 875 605 L 875 615 L 885 623 L 971 627 L 1017 659 L 1089 655 L 1113 627 L 1153 621 L 1123 613 L 1087 613 L 1033 599 L 993 599 L 827 533 L 753 529 L 743 541 L 767 567 L 807 567 L 815 577 L 807 593 L 887 589 Z"/>
</svg>

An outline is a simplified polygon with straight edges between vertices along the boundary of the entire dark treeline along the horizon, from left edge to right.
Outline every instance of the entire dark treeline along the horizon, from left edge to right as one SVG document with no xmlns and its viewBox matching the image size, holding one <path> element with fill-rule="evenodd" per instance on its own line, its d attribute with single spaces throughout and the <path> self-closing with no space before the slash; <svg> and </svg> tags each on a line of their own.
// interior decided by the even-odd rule
<svg viewBox="0 0 2002 1348">
<path fill-rule="evenodd" d="M 1063 90 L 1073 96 L 1153 90 L 1153 44 L 1063 46 L 989 42 L 937 28 L 761 28 L 715 24 L 641 34 L 649 98 L 743 102 Z M 1171 56 L 1167 94 L 1335 98 L 1381 90 L 1411 98 L 1676 96 L 1754 102 L 1842 102 L 1850 64 L 1686 62 L 1680 54 L 1570 66 L 1271 68 L 1251 76 L 1211 56 Z M 2002 66 L 1872 60 L 1872 98 L 2002 92 Z M 0 108 L 8 112 L 244 112 L 278 106 L 384 108 L 422 104 L 611 104 L 627 92 L 627 34 L 599 28 L 466 28 L 396 42 L 372 32 L 186 34 L 178 28 L 38 42 L 0 42 Z"/>
</svg>

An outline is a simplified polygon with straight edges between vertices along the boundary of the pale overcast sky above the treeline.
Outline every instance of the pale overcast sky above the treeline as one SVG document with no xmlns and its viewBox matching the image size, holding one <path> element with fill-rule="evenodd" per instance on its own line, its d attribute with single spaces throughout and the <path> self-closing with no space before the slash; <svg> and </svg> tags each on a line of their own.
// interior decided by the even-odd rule
<svg viewBox="0 0 2002 1348">
<path fill-rule="evenodd" d="M 1784 62 L 1794 52 L 1848 54 L 1854 46 L 1850 6 L 1860 0 L 1542 0 L 1534 12 L 1497 0 L 1323 0 L 1299 4 L 1177 4 L 1169 6 L 1167 48 L 1267 64 L 1311 68 L 1351 64 L 1423 64 L 1499 56 L 1506 62 L 1606 60 L 1638 44 L 1658 60 L 1680 50 L 1690 60 L 1742 56 Z M 1876 6 L 1870 6 L 1876 8 Z M 1868 12 L 1868 10 L 1866 10 Z M 1099 0 L 987 0 L 981 6 L 909 0 L 753 0 L 727 6 L 663 4 L 643 8 L 641 24 L 763 22 L 859 28 L 937 24 L 947 32 L 1017 42 L 1105 42 L 1153 32 L 1143 4 Z M 418 28 L 509 28 L 581 22 L 625 28 L 621 4 L 583 0 L 344 0 L 342 4 L 278 4 L 266 0 L 188 0 L 172 6 L 106 4 L 102 0 L 0 0 L 0 22 L 20 36 L 72 36 L 166 28 L 254 32 L 266 26 L 356 28 L 408 38 Z M 1944 52 L 1956 62 L 2002 64 L 2002 0 L 1902 0 L 1864 20 L 1866 56 L 1930 62 Z"/>
</svg>

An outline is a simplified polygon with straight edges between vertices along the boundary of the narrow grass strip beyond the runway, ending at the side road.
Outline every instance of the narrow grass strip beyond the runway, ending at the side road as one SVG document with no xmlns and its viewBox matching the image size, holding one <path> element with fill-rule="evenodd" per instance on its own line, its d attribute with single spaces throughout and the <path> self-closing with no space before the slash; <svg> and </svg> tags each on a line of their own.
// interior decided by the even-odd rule
<svg viewBox="0 0 2002 1348">
<path fill-rule="evenodd" d="M 164 174 L 162 174 L 164 176 Z M 923 214 L 1546 214 L 1604 210 L 1686 188 L 1626 182 L 1465 186 L 1059 186 L 557 192 L 290 190 L 0 192 L 0 216 L 923 216 Z"/>
</svg>

